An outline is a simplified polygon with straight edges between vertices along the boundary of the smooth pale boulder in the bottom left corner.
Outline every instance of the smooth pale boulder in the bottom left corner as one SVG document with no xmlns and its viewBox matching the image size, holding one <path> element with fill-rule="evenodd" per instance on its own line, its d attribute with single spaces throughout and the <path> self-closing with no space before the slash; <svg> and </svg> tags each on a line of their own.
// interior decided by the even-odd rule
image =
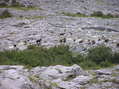
<svg viewBox="0 0 119 89">
<path fill-rule="evenodd" d="M 35 89 L 23 66 L 0 66 L 0 89 Z"/>
</svg>

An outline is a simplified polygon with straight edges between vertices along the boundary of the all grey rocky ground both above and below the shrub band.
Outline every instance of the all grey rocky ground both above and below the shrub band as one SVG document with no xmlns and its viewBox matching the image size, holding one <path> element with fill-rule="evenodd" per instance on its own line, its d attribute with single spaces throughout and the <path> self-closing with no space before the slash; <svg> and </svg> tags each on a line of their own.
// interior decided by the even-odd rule
<svg viewBox="0 0 119 89">
<path fill-rule="evenodd" d="M 18 3 L 24 8 L 13 7 Z M 4 10 L 12 17 L 0 19 L 0 50 L 66 44 L 72 51 L 86 52 L 105 44 L 119 51 L 119 18 L 62 14 L 101 11 L 117 16 L 119 0 L 0 0 L 0 15 Z M 0 89 L 119 89 L 119 66 L 84 71 L 78 65 L 32 69 L 5 65 L 0 66 Z"/>
</svg>

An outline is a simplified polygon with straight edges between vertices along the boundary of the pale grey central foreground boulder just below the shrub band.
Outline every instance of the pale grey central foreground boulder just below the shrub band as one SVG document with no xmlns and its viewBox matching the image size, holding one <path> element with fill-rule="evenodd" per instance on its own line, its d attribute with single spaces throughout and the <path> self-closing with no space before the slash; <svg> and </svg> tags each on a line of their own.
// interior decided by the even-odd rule
<svg viewBox="0 0 119 89">
<path fill-rule="evenodd" d="M 54 80 L 62 79 L 66 80 L 70 77 L 76 77 L 78 75 L 87 75 L 88 73 L 83 71 L 78 65 L 73 65 L 71 67 L 66 67 L 62 65 L 41 67 L 32 69 L 33 74 L 38 74 L 38 76 L 44 80 Z"/>
</svg>

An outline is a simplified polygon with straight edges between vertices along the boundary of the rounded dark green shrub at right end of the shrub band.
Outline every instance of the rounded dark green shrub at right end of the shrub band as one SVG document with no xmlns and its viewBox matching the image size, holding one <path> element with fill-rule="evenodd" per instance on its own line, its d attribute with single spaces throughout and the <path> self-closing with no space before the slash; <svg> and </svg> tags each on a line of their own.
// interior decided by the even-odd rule
<svg viewBox="0 0 119 89">
<path fill-rule="evenodd" d="M 95 62 L 96 64 L 101 64 L 105 61 L 111 62 L 112 50 L 104 45 L 94 47 L 89 49 L 87 59 Z"/>
</svg>

